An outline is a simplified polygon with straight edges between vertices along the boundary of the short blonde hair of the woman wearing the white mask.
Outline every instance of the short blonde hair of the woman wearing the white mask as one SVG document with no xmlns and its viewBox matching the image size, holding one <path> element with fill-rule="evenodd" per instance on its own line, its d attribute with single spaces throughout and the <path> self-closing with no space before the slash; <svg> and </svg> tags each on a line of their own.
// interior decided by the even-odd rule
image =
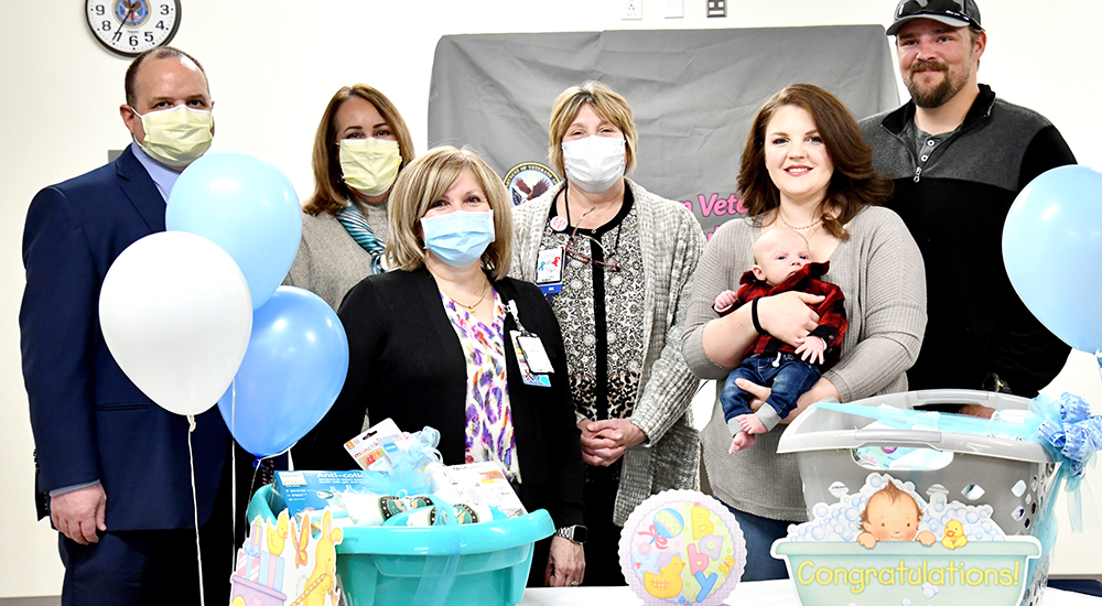
<svg viewBox="0 0 1102 606">
<path fill-rule="evenodd" d="M 595 80 L 582 86 L 572 86 L 554 100 L 554 107 L 551 108 L 551 125 L 548 129 L 550 132 L 548 159 L 551 161 L 551 166 L 565 178 L 566 165 L 562 160 L 562 138 L 566 136 L 566 130 L 574 118 L 577 118 L 577 111 L 583 105 L 592 106 L 593 111 L 620 129 L 625 141 L 624 172 L 629 173 L 635 170 L 635 150 L 639 134 L 635 130 L 631 108 L 624 97 Z"/>
</svg>

